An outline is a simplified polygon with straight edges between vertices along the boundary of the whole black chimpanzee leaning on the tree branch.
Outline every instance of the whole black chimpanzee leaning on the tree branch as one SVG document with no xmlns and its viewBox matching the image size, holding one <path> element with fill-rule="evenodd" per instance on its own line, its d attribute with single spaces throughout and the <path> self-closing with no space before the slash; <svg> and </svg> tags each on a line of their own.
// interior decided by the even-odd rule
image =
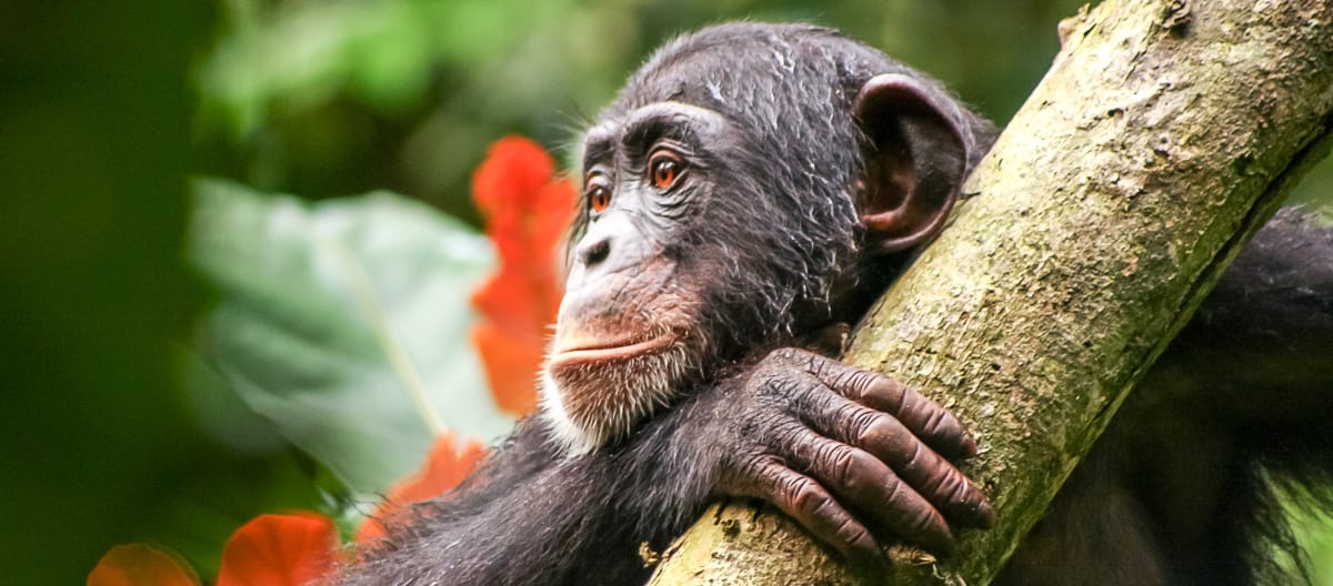
<svg viewBox="0 0 1333 586">
<path fill-rule="evenodd" d="M 599 120 L 541 413 L 339 579 L 641 583 L 641 543 L 724 495 L 870 565 L 988 526 L 946 459 L 964 426 L 818 350 L 936 234 L 990 124 L 834 31 L 756 23 L 666 44 Z M 1253 462 L 1320 454 L 1333 404 L 1333 230 L 1284 213 L 1252 248 L 1002 579 L 1248 581 Z"/>
</svg>

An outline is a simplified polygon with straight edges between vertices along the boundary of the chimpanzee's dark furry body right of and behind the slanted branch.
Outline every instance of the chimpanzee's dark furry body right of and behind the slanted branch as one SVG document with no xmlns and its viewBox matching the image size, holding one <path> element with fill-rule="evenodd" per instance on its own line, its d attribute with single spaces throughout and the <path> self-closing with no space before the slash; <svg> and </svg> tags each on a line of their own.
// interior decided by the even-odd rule
<svg viewBox="0 0 1333 586">
<path fill-rule="evenodd" d="M 1284 209 L 1138 385 L 1000 583 L 1302 581 L 1305 557 L 1274 487 L 1298 507 L 1333 510 L 1330 393 L 1333 228 Z M 1297 575 L 1274 563 L 1278 553 Z"/>
</svg>

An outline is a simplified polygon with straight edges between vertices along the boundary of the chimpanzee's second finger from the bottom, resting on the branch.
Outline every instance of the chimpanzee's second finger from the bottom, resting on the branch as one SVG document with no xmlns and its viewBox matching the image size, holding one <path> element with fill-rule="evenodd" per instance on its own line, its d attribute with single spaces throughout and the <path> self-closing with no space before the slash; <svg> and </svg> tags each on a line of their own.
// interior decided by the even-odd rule
<svg viewBox="0 0 1333 586">
<path fill-rule="evenodd" d="M 842 502 L 930 551 L 953 551 L 953 533 L 940 511 L 874 455 L 810 430 L 797 438 L 794 447 L 792 463 L 808 470 Z"/>
</svg>

